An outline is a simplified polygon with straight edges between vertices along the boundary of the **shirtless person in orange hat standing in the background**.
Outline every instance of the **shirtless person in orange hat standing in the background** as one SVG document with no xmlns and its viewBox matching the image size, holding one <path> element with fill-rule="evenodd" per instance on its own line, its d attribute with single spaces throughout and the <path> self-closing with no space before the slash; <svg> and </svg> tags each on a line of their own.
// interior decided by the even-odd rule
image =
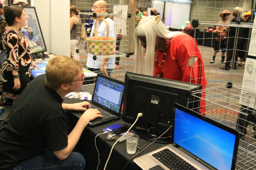
<svg viewBox="0 0 256 170">
<path fill-rule="evenodd" d="M 222 20 L 220 20 L 218 23 L 228 23 L 229 15 L 231 13 L 225 9 L 223 12 L 220 14 L 220 17 Z M 215 61 L 215 57 L 217 52 L 221 50 L 221 63 L 224 63 L 225 61 L 225 52 L 227 51 L 227 32 L 228 32 L 228 26 L 220 26 L 217 25 L 215 28 L 215 32 L 218 33 L 218 36 L 216 37 L 216 41 L 214 44 L 214 51 L 213 51 L 213 60 L 210 62 L 213 64 Z"/>
</svg>

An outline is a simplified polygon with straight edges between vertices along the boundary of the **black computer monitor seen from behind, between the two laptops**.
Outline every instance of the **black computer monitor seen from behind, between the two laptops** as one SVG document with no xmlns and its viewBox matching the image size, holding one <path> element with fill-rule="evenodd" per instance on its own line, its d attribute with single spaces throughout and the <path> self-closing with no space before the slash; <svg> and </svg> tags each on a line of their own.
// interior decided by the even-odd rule
<svg viewBox="0 0 256 170">
<path fill-rule="evenodd" d="M 174 103 L 198 112 L 200 99 L 191 95 L 196 90 L 202 90 L 202 86 L 127 72 L 122 118 L 133 123 L 138 113 L 143 113 L 135 125 L 150 130 L 137 133 L 146 140 L 156 138 L 159 131 L 163 133 L 172 125 Z M 200 93 L 196 95 L 200 97 Z M 171 128 L 166 135 L 172 135 Z"/>
</svg>

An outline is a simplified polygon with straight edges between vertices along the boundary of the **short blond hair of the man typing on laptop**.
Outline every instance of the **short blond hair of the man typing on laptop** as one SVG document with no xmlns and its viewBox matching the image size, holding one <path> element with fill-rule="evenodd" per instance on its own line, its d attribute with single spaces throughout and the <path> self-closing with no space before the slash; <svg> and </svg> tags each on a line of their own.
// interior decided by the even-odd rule
<svg viewBox="0 0 256 170">
<path fill-rule="evenodd" d="M 80 70 L 82 65 L 77 60 L 62 55 L 55 56 L 46 65 L 44 84 L 50 89 L 57 90 L 61 84 L 72 84 Z"/>
</svg>

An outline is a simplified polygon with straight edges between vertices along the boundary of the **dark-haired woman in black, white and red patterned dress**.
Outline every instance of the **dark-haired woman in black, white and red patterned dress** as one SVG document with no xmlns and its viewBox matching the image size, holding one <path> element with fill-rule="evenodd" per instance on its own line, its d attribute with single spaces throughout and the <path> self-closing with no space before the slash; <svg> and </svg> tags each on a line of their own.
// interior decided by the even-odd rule
<svg viewBox="0 0 256 170">
<path fill-rule="evenodd" d="M 27 39 L 19 31 L 26 25 L 25 11 L 20 6 L 9 6 L 5 9 L 5 21 L 0 26 L 0 46 L 6 53 L 2 64 L 0 91 L 3 97 L 16 100 L 30 82 L 33 67 Z"/>
</svg>

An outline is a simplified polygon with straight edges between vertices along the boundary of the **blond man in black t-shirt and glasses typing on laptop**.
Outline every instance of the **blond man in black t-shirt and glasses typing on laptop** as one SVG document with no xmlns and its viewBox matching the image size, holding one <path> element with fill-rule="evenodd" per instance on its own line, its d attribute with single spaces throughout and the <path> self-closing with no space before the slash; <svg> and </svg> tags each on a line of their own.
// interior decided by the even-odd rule
<svg viewBox="0 0 256 170">
<path fill-rule="evenodd" d="M 85 168 L 84 157 L 72 150 L 89 121 L 102 115 L 89 102 L 62 103 L 68 93 L 82 89 L 82 66 L 70 57 L 56 56 L 45 73 L 28 84 L 0 124 L 1 170 Z M 85 111 L 69 135 L 67 110 Z"/>
</svg>

